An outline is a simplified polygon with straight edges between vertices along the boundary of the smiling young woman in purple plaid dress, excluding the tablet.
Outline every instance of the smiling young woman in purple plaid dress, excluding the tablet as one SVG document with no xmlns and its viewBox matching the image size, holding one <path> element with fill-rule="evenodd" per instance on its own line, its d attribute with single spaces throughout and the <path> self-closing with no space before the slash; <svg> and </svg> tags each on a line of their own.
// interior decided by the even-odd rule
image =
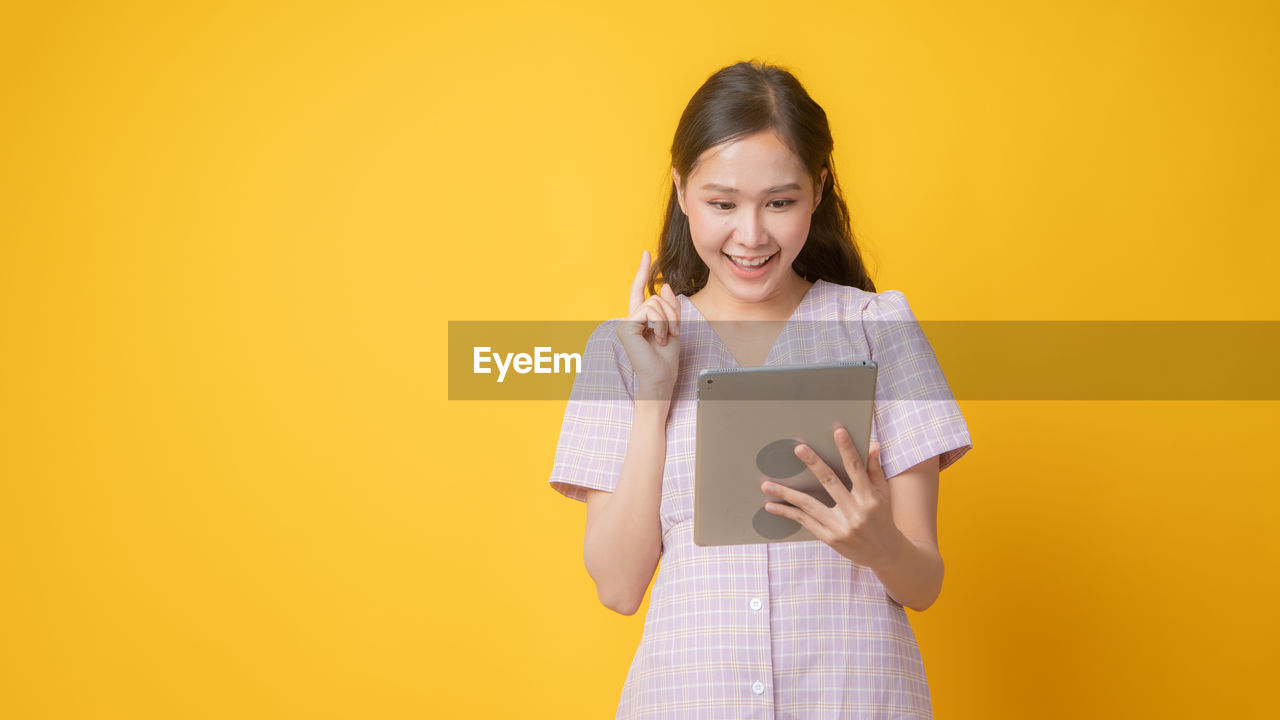
<svg viewBox="0 0 1280 720">
<path fill-rule="evenodd" d="M 938 474 L 972 443 L 906 297 L 863 268 L 831 152 L 787 70 L 713 74 L 676 129 L 657 261 L 588 341 L 550 483 L 586 501 L 605 606 L 634 614 L 657 570 L 618 717 L 932 716 L 904 607 L 941 592 Z M 867 461 L 835 433 L 852 489 L 804 445 L 835 506 L 762 478 L 822 542 L 694 544 L 698 373 L 859 359 L 879 373 Z"/>
</svg>

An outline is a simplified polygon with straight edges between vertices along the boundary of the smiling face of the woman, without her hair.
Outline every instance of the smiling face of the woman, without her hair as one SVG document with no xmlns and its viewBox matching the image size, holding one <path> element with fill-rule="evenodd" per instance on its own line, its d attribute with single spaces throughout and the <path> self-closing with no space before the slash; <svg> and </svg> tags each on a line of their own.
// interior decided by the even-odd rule
<svg viewBox="0 0 1280 720">
<path fill-rule="evenodd" d="M 694 247 L 710 269 L 708 290 L 740 302 L 788 296 L 799 279 L 791 263 L 820 199 L 800 158 L 765 131 L 704 151 L 684 187 L 671 174 Z"/>
</svg>

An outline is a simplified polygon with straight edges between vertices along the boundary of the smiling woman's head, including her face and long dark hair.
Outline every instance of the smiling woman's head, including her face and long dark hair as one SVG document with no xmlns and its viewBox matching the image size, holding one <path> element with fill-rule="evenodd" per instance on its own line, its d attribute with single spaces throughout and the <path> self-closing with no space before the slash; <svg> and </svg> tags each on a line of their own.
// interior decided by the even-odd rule
<svg viewBox="0 0 1280 720">
<path fill-rule="evenodd" d="M 700 305 L 740 295 L 749 302 L 739 310 L 759 315 L 760 302 L 794 307 L 804 295 L 796 278 L 874 292 L 833 149 L 827 113 L 786 69 L 739 63 L 713 74 L 689 101 L 672 141 L 672 188 L 649 293 L 657 295 L 659 282 L 677 295 L 710 287 Z M 732 272 L 741 266 L 733 256 L 771 255 L 778 258 L 768 260 L 768 272 Z"/>
</svg>

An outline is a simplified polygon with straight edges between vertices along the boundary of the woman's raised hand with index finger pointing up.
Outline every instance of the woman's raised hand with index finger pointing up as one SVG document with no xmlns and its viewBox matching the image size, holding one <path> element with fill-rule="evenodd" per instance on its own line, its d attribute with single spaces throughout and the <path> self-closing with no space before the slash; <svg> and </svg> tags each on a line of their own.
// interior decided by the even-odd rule
<svg viewBox="0 0 1280 720">
<path fill-rule="evenodd" d="M 667 283 L 658 295 L 645 300 L 648 279 L 649 251 L 645 250 L 631 283 L 630 314 L 618 325 L 618 340 L 636 374 L 636 400 L 669 401 L 680 374 L 680 300 Z"/>
</svg>

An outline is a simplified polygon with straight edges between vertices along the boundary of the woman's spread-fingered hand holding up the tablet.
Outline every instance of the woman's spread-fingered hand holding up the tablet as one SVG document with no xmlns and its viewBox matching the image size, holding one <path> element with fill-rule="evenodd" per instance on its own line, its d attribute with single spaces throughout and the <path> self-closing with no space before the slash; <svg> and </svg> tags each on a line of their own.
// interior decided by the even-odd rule
<svg viewBox="0 0 1280 720">
<path fill-rule="evenodd" d="M 796 457 L 818 477 L 822 487 L 836 501 L 836 506 L 827 507 L 806 492 L 765 478 L 760 489 L 795 507 L 768 502 L 764 509 L 800 523 L 815 538 L 858 565 L 878 568 L 893 556 L 895 548 L 900 547 L 905 537 L 893 524 L 888 482 L 879 464 L 879 443 L 872 443 L 865 466 L 858 455 L 858 448 L 854 447 L 854 438 L 844 427 L 836 428 L 836 447 L 840 448 L 845 470 L 854 482 L 852 492 L 812 447 L 800 443 L 795 448 Z"/>
</svg>

